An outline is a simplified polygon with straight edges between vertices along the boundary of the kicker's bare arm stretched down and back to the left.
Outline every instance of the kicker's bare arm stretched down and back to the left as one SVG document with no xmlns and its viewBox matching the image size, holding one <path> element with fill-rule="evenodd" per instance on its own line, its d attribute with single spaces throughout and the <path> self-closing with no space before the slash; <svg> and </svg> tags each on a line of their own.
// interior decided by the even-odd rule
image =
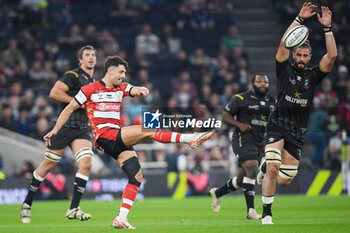
<svg viewBox="0 0 350 233">
<path fill-rule="evenodd" d="M 68 121 L 70 115 L 80 108 L 80 105 L 73 99 L 61 112 L 53 129 L 44 136 L 46 145 L 51 145 L 51 138 L 55 136 L 63 125 Z"/>
</svg>

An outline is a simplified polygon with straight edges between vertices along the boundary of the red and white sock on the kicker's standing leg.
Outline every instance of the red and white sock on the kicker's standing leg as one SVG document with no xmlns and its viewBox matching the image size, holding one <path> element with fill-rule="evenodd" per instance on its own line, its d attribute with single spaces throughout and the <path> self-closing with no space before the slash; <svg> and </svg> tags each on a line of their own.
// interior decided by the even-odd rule
<svg viewBox="0 0 350 233">
<path fill-rule="evenodd" d="M 139 186 L 133 184 L 127 184 L 122 196 L 122 204 L 120 206 L 119 214 L 117 216 L 118 220 L 126 220 L 132 204 L 135 201 L 136 194 L 139 191 Z"/>
</svg>

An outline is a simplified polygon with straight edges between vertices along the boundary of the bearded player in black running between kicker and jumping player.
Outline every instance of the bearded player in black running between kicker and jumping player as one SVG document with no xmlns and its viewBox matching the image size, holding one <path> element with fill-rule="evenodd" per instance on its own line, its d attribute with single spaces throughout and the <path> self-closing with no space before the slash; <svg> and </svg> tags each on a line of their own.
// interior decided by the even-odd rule
<svg viewBox="0 0 350 233">
<path fill-rule="evenodd" d="M 232 148 L 238 159 L 236 177 L 229 179 L 220 188 L 212 188 L 211 207 L 220 211 L 220 197 L 243 188 L 247 205 L 247 219 L 260 219 L 254 208 L 255 178 L 258 160 L 264 155 L 264 134 L 268 117 L 275 105 L 275 99 L 268 94 L 269 80 L 258 74 L 253 79 L 253 90 L 235 95 L 225 107 L 223 121 L 234 126 Z"/>
</svg>

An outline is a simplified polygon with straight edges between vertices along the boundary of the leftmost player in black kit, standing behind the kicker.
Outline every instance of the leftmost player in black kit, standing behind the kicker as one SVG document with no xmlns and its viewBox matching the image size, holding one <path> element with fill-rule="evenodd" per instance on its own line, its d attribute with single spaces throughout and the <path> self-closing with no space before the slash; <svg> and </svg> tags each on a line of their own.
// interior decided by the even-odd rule
<svg viewBox="0 0 350 233">
<path fill-rule="evenodd" d="M 96 50 L 90 46 L 82 47 L 78 52 L 79 68 L 67 71 L 50 91 L 50 98 L 61 103 L 61 111 L 72 101 L 80 88 L 95 81 L 93 78 L 96 65 Z M 90 214 L 79 208 L 80 199 L 85 191 L 91 168 L 92 143 L 91 127 L 85 110 L 80 108 L 69 118 L 67 123 L 46 148 L 44 160 L 33 172 L 33 178 L 28 188 L 28 194 L 21 209 L 23 223 L 30 223 L 31 206 L 41 182 L 61 160 L 67 146 L 72 148 L 78 163 L 75 175 L 73 198 L 66 213 L 68 219 L 89 220 Z"/>
</svg>

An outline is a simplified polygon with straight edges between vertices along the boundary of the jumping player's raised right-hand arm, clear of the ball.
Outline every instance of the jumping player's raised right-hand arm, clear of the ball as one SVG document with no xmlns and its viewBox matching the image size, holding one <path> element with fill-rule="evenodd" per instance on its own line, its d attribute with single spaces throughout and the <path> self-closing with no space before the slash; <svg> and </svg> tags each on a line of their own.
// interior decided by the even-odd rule
<svg viewBox="0 0 350 233">
<path fill-rule="evenodd" d="M 331 29 L 332 12 L 328 7 L 322 6 L 322 16 L 317 14 L 318 21 L 323 25 L 326 38 L 327 53 L 320 61 L 320 68 L 324 72 L 330 72 L 333 68 L 335 59 L 337 58 L 337 45 Z"/>
</svg>

